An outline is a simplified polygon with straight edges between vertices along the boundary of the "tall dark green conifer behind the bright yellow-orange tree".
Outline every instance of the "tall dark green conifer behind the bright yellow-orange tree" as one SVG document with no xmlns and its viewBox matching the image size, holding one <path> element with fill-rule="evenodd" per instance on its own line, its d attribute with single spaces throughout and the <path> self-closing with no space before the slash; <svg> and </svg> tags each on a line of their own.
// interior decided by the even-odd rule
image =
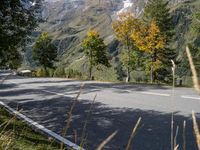
<svg viewBox="0 0 200 150">
<path fill-rule="evenodd" d="M 157 71 L 157 79 L 164 80 L 166 77 L 169 79 L 171 76 L 171 60 L 176 58 L 176 52 L 171 48 L 174 31 L 168 2 L 165 0 L 149 0 L 144 10 L 143 19 L 147 23 L 154 21 L 162 36 L 165 37 L 163 51 L 157 54 L 163 65 Z"/>
</svg>

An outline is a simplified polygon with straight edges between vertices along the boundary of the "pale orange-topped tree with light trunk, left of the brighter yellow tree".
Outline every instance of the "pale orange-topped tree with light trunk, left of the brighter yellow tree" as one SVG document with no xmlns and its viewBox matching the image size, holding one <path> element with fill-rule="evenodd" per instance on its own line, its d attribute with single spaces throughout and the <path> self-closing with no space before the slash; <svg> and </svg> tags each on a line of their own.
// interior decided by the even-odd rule
<svg viewBox="0 0 200 150">
<path fill-rule="evenodd" d="M 130 72 L 132 68 L 132 62 L 134 59 L 131 57 L 131 51 L 134 48 L 134 44 L 131 40 L 131 35 L 133 33 L 133 30 L 136 30 L 138 28 L 138 22 L 139 20 L 134 17 L 132 13 L 126 12 L 121 13 L 118 15 L 118 18 L 112 23 L 113 31 L 115 32 L 115 35 L 117 39 L 124 45 L 125 52 L 123 52 L 123 56 L 127 56 L 125 62 L 122 62 L 123 64 L 126 64 L 124 67 L 126 68 L 126 82 L 130 81 Z"/>
</svg>

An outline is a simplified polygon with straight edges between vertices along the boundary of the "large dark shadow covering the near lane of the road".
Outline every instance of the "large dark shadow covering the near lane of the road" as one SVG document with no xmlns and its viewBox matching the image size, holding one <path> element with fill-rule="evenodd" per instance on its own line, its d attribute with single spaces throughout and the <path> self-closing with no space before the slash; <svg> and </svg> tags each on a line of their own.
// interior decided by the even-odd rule
<svg viewBox="0 0 200 150">
<path fill-rule="evenodd" d="M 67 112 L 73 100 L 60 97 L 43 101 L 27 102 L 19 104 L 19 109 L 34 121 L 61 134 L 65 126 Z M 77 131 L 78 144 L 91 101 L 78 101 L 73 112 L 73 122 L 67 138 L 74 141 L 74 131 Z M 17 103 L 10 103 L 16 108 Z M 170 121 L 171 114 L 163 114 L 155 111 L 142 111 L 139 109 L 109 108 L 101 103 L 95 103 L 93 112 L 87 126 L 87 143 L 85 148 L 93 150 L 108 135 L 119 130 L 117 136 L 108 144 L 107 149 L 123 150 L 127 144 L 131 130 L 139 117 L 142 117 L 137 135 L 132 144 L 132 149 L 137 150 L 169 150 L 170 149 Z M 187 121 L 186 139 L 187 149 L 197 150 L 193 136 L 192 120 L 187 117 L 175 116 L 175 127 L 179 126 L 177 143 L 182 150 L 183 121 Z"/>
</svg>

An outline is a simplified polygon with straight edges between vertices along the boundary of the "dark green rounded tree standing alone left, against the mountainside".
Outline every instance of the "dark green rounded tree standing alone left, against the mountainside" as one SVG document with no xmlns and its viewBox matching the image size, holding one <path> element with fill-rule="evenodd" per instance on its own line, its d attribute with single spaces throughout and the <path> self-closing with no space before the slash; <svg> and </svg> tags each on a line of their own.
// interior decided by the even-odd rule
<svg viewBox="0 0 200 150">
<path fill-rule="evenodd" d="M 37 64 L 47 68 L 52 68 L 57 57 L 57 48 L 51 43 L 47 32 L 43 32 L 33 45 L 33 59 Z"/>
</svg>

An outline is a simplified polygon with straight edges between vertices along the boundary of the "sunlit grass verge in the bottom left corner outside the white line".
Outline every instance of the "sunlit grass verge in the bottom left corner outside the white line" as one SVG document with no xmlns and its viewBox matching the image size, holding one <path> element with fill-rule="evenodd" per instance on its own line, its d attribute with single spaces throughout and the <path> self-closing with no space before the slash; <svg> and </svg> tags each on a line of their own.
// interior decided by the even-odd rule
<svg viewBox="0 0 200 150">
<path fill-rule="evenodd" d="M 57 150 L 59 144 L 34 131 L 24 122 L 0 107 L 0 149 L 8 150 Z"/>
</svg>

